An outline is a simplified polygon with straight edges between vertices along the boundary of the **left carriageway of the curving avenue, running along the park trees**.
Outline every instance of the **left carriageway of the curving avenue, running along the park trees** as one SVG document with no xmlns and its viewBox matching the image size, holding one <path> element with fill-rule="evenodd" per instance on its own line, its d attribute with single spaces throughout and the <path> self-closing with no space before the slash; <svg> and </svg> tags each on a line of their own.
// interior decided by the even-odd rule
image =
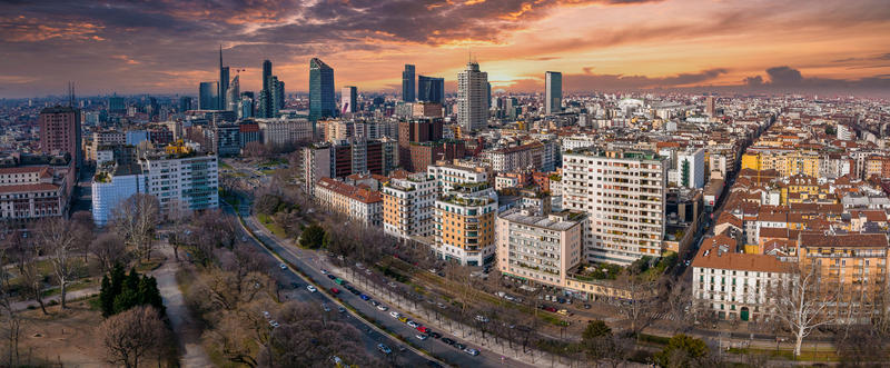
<svg viewBox="0 0 890 368">
<path fill-rule="evenodd" d="M 233 209 L 231 209 L 230 206 L 225 205 L 224 207 L 225 207 L 226 211 L 233 212 Z M 248 226 L 249 226 L 249 222 L 248 222 Z M 277 245 L 277 242 L 271 241 L 271 239 L 268 238 L 268 236 L 265 236 L 264 233 L 258 232 L 257 228 L 251 226 L 251 230 L 257 236 L 257 238 L 254 238 L 253 235 L 244 231 L 244 229 L 241 229 L 241 231 L 243 231 L 241 236 L 246 237 L 248 239 L 249 243 L 251 243 L 255 247 L 258 247 L 259 249 L 264 250 L 264 252 L 268 255 L 270 260 L 274 261 L 274 265 L 278 265 L 280 261 L 277 258 L 275 258 L 275 256 L 271 252 L 269 252 L 267 250 L 267 248 L 264 247 L 261 243 L 259 243 L 257 240 L 261 240 L 265 243 L 270 245 L 273 250 L 278 252 L 290 265 L 296 265 L 301 271 L 304 271 L 307 275 L 309 275 L 315 281 L 320 281 L 320 282 L 316 284 L 317 286 L 323 287 L 325 289 L 329 289 L 329 288 L 336 286 L 333 281 L 330 281 L 324 275 L 322 275 L 317 269 L 313 269 L 313 268 L 308 267 L 306 263 L 303 262 L 301 259 L 299 259 L 298 257 L 296 257 L 291 252 L 284 251 L 284 248 L 280 245 Z M 377 344 L 384 344 L 387 347 L 393 349 L 393 354 L 388 358 L 384 358 L 384 359 L 390 359 L 389 361 L 392 364 L 394 364 L 395 366 L 399 366 L 399 367 L 422 367 L 422 366 L 426 366 L 427 361 L 431 360 L 431 358 L 424 356 L 422 352 L 413 349 L 412 347 L 406 346 L 404 342 L 400 342 L 400 341 L 396 340 L 394 337 L 392 337 L 390 335 L 388 335 L 385 331 L 380 330 L 376 326 L 362 320 L 352 310 L 347 309 L 347 312 L 339 314 L 337 311 L 337 306 L 339 306 L 342 304 L 342 301 L 332 299 L 328 295 L 326 295 L 324 292 L 309 292 L 306 289 L 306 286 L 309 282 L 306 279 L 304 279 L 299 273 L 297 273 L 296 270 L 290 269 L 289 267 L 288 267 L 287 270 L 281 270 L 280 268 L 278 268 L 276 266 L 275 269 L 270 270 L 270 272 L 273 273 L 273 276 L 284 278 L 284 281 L 285 281 L 284 284 L 287 287 L 290 287 L 291 282 L 298 284 L 298 288 L 296 288 L 296 289 L 291 288 L 291 290 L 286 294 L 286 297 L 288 299 L 296 299 L 296 300 L 299 300 L 299 301 L 306 301 L 306 302 L 315 304 L 315 305 L 318 306 L 318 311 L 319 312 L 324 312 L 323 309 L 322 309 L 322 304 L 325 304 L 328 307 L 330 307 L 330 309 L 332 309 L 332 311 L 328 312 L 332 316 L 332 318 L 340 318 L 343 321 L 352 325 L 353 327 L 355 327 L 356 329 L 362 331 L 362 334 L 363 334 L 362 344 L 365 346 L 365 348 L 368 351 L 368 354 L 383 356 L 383 354 L 377 350 Z M 347 296 L 348 297 L 355 297 L 355 296 L 353 296 L 352 294 L 348 294 L 348 292 L 340 294 L 340 298 L 343 298 L 344 300 L 348 299 Z M 373 309 L 372 308 L 372 310 L 368 310 L 367 308 L 362 308 L 362 307 L 370 307 L 369 305 L 367 305 L 365 302 L 356 304 L 355 300 L 345 300 L 345 301 L 349 302 L 357 310 L 362 311 L 362 314 L 364 314 L 365 316 L 372 316 L 372 317 L 374 317 L 376 319 L 380 319 L 377 316 L 374 316 L 375 314 L 373 314 L 373 311 L 378 311 L 377 309 Z M 386 326 L 386 325 L 384 324 L 384 326 Z M 389 328 L 388 326 L 386 326 L 386 327 Z M 408 336 L 408 337 L 411 337 L 411 336 Z M 406 349 L 405 349 L 405 351 L 399 351 L 398 347 L 404 347 Z"/>
</svg>

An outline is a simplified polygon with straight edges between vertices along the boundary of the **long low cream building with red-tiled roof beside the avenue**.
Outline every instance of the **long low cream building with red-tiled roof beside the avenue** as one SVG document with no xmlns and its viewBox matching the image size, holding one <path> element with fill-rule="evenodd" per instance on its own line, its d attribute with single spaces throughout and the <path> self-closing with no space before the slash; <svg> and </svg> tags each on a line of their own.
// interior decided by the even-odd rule
<svg viewBox="0 0 890 368">
<path fill-rule="evenodd" d="M 322 207 L 366 226 L 379 227 L 383 223 L 383 198 L 377 191 L 322 178 L 315 185 L 315 200 Z"/>
</svg>

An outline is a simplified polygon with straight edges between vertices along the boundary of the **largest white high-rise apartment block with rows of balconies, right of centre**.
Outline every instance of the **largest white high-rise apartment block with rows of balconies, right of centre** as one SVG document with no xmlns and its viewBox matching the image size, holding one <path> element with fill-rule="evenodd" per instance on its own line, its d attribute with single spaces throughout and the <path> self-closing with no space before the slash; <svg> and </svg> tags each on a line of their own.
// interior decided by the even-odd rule
<svg viewBox="0 0 890 368">
<path fill-rule="evenodd" d="M 586 260 L 626 266 L 661 257 L 668 166 L 653 151 L 591 147 L 563 156 L 563 208 L 590 215 Z"/>
</svg>

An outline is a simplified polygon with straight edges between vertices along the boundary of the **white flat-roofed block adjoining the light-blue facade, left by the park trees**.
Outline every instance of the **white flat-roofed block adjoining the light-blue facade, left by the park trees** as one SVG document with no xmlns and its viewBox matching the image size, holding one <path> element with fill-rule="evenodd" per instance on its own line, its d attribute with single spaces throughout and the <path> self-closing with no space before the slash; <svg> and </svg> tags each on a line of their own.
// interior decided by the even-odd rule
<svg viewBox="0 0 890 368">
<path fill-rule="evenodd" d="M 161 213 L 171 203 L 184 210 L 219 207 L 218 162 L 216 155 L 155 153 L 139 159 L 147 193 L 160 201 Z"/>
</svg>

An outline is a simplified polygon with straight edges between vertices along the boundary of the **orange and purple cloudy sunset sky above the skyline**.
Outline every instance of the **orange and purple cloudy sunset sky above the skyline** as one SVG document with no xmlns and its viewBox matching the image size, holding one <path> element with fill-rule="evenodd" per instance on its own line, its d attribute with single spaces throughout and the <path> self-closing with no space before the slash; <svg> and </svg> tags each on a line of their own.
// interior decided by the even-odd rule
<svg viewBox="0 0 890 368">
<path fill-rule="evenodd" d="M 288 92 L 308 63 L 337 88 L 389 91 L 403 64 L 454 86 L 468 53 L 495 89 L 890 93 L 890 4 L 856 1 L 0 0 L 0 97 L 189 93 L 217 52 L 258 90 L 270 59 Z M 714 87 L 720 86 L 720 87 Z"/>
</svg>

